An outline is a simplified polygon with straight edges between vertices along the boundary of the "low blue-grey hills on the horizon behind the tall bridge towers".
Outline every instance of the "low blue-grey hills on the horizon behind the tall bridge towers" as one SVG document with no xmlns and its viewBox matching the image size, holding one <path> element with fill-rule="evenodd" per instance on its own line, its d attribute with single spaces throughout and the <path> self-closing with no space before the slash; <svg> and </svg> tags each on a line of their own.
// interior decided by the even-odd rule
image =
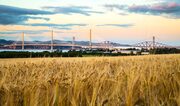
<svg viewBox="0 0 180 106">
<path fill-rule="evenodd" d="M 13 41 L 13 40 L 5 40 L 5 39 L 0 39 L 0 45 L 9 45 L 9 44 L 21 44 L 21 41 Z M 51 44 L 51 41 L 25 41 L 25 44 Z M 63 40 L 53 40 L 54 44 L 71 44 L 72 41 L 63 41 Z M 89 41 L 75 41 L 75 44 L 77 45 L 84 45 L 87 46 L 89 45 Z M 92 43 L 93 45 L 102 45 L 102 43 Z M 128 44 L 119 44 L 119 43 L 114 43 L 110 42 L 111 45 L 113 46 L 130 46 Z"/>
</svg>

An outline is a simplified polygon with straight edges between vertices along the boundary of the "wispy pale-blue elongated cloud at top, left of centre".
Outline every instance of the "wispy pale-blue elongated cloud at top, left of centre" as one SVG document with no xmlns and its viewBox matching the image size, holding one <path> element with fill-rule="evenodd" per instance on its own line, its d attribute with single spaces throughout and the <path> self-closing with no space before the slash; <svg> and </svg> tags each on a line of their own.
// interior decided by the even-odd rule
<svg viewBox="0 0 180 106">
<path fill-rule="evenodd" d="M 66 15 L 82 14 L 85 16 L 90 16 L 91 14 L 103 14 L 103 12 L 93 11 L 92 8 L 87 6 L 62 6 L 62 7 L 47 6 L 47 7 L 43 7 L 43 9 L 48 9 L 54 13 L 66 14 Z"/>
</svg>

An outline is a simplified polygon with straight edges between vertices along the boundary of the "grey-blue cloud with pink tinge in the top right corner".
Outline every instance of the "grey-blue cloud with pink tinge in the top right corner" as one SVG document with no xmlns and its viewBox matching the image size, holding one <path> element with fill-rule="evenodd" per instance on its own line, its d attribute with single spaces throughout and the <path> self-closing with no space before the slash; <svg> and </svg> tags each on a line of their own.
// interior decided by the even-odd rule
<svg viewBox="0 0 180 106">
<path fill-rule="evenodd" d="M 129 13 L 161 15 L 167 18 L 180 18 L 180 3 L 161 2 L 151 5 L 104 5 L 107 9 L 117 9 Z"/>
</svg>

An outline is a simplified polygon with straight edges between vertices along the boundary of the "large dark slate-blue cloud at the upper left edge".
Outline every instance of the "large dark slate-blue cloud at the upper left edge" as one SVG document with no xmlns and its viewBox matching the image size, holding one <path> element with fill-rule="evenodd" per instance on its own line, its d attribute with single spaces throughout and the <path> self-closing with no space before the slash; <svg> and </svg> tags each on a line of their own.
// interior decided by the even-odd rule
<svg viewBox="0 0 180 106">
<path fill-rule="evenodd" d="M 53 12 L 37 10 L 37 9 L 26 9 L 13 6 L 0 5 L 0 24 L 21 24 L 29 19 L 41 19 L 48 21 L 49 18 L 35 17 L 35 15 L 51 15 Z"/>
</svg>

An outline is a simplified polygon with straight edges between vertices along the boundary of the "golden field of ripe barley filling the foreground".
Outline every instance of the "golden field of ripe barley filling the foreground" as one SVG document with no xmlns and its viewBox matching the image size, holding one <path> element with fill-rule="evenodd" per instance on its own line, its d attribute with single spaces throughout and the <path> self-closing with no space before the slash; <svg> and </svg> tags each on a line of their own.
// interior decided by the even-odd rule
<svg viewBox="0 0 180 106">
<path fill-rule="evenodd" d="M 180 106 L 180 55 L 0 59 L 0 106 Z"/>
</svg>

